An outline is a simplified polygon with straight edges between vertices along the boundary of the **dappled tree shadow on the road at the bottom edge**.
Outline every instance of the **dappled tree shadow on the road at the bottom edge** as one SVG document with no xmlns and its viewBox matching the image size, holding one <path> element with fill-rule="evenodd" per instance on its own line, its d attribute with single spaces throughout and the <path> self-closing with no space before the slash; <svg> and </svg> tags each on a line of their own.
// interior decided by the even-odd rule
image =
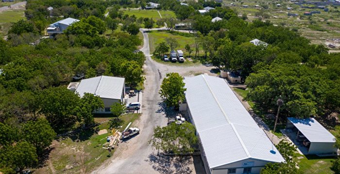
<svg viewBox="0 0 340 174">
<path fill-rule="evenodd" d="M 188 167 L 192 163 L 191 157 L 168 157 L 164 155 L 149 155 L 145 161 L 152 165 L 153 169 L 160 174 L 191 174 L 192 170 Z"/>
</svg>

